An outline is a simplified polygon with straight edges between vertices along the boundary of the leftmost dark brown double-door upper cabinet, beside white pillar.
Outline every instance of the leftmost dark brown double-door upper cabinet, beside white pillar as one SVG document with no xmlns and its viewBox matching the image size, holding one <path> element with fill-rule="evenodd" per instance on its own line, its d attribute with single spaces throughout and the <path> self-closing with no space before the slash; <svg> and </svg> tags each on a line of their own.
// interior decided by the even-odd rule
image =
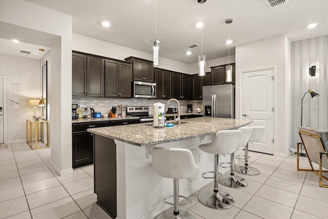
<svg viewBox="0 0 328 219">
<path fill-rule="evenodd" d="M 104 58 L 72 54 L 72 95 L 104 96 Z"/>
</svg>

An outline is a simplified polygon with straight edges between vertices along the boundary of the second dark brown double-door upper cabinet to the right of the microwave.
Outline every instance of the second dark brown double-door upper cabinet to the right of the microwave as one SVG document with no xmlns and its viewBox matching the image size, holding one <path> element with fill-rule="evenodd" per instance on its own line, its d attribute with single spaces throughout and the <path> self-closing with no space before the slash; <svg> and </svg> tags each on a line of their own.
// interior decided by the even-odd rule
<svg viewBox="0 0 328 219">
<path fill-rule="evenodd" d="M 172 98 L 190 99 L 190 76 L 178 72 L 172 73 Z"/>
</svg>

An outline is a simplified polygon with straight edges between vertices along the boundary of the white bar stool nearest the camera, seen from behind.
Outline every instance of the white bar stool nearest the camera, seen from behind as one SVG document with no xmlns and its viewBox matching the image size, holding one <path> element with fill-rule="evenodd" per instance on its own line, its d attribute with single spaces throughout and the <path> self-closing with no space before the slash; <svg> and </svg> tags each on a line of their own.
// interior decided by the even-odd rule
<svg viewBox="0 0 328 219">
<path fill-rule="evenodd" d="M 174 206 L 172 212 L 164 211 L 157 215 L 156 219 L 196 219 L 196 217 L 188 211 L 179 210 L 179 197 L 187 197 L 179 195 L 179 179 L 188 178 L 197 173 L 199 166 L 195 163 L 193 154 L 188 149 L 182 148 L 154 148 L 152 150 L 152 165 L 155 172 L 165 178 L 173 178 L 173 204 L 166 200 L 172 195 L 164 198 L 164 202 Z M 188 200 L 189 201 L 189 200 Z M 187 204 L 180 205 L 190 205 Z"/>
</svg>

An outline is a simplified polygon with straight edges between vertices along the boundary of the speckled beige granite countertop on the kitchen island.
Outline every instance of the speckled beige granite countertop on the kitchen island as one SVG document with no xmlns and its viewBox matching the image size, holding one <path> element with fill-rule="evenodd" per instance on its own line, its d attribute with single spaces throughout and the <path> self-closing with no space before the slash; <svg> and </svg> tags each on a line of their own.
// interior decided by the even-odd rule
<svg viewBox="0 0 328 219">
<path fill-rule="evenodd" d="M 156 145 L 215 134 L 218 131 L 238 129 L 251 120 L 198 117 L 181 121 L 180 126 L 154 128 L 147 124 L 111 126 L 88 129 L 89 132 L 136 146 Z M 187 122 L 187 123 L 185 123 Z"/>
</svg>

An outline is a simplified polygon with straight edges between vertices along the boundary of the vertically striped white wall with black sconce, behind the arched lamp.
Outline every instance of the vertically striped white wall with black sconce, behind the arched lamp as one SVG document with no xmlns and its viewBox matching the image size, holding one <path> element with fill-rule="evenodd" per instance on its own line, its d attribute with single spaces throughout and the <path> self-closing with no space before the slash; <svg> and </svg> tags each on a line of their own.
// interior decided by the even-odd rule
<svg viewBox="0 0 328 219">
<path fill-rule="evenodd" d="M 307 93 L 303 99 L 303 126 L 328 130 L 328 35 L 304 39 L 292 43 L 292 127 L 293 146 L 300 142 L 298 127 L 301 126 L 301 101 L 305 92 L 312 89 L 319 93 L 312 99 Z M 316 76 L 311 77 L 309 68 L 316 66 Z"/>
</svg>

